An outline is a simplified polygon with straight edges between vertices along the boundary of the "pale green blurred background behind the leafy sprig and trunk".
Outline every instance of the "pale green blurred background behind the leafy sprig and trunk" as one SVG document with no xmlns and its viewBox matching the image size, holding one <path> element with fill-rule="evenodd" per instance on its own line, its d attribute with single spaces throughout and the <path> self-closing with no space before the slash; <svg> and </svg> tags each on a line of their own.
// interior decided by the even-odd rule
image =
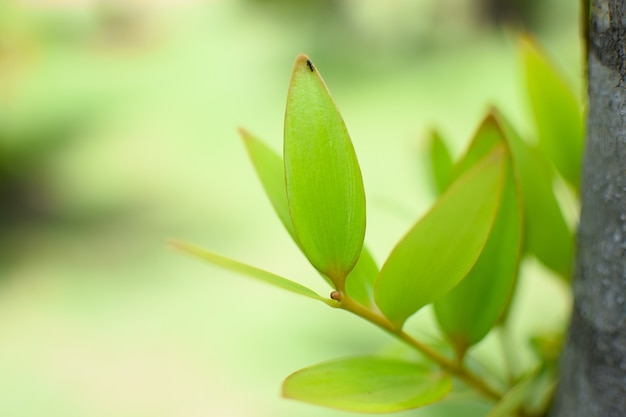
<svg viewBox="0 0 626 417">
<path fill-rule="evenodd" d="M 0 0 L 0 415 L 348 415 L 281 400 L 282 379 L 394 349 L 389 337 L 168 239 L 328 292 L 236 133 L 280 149 L 295 56 L 344 115 L 382 262 L 433 200 L 428 128 L 458 155 L 496 104 L 532 137 L 521 31 L 582 86 L 577 13 L 572 0 Z M 563 326 L 568 303 L 524 268 L 538 273 L 521 283 L 520 340 Z M 428 311 L 413 322 L 435 335 Z"/>
</svg>

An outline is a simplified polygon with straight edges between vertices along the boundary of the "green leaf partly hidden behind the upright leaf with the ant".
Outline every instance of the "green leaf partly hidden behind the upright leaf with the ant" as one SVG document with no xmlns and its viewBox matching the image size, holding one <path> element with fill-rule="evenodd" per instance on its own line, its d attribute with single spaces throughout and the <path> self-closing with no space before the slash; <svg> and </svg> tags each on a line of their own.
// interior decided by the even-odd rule
<svg viewBox="0 0 626 417">
<path fill-rule="evenodd" d="M 287 191 L 285 189 L 285 173 L 283 159 L 262 141 L 243 129 L 239 130 L 254 169 L 267 196 L 291 237 L 295 240 L 295 232 L 289 216 Z M 374 300 L 374 282 L 378 275 L 378 267 L 369 250 L 364 246 L 361 256 L 346 279 L 346 292 L 359 303 L 371 307 Z M 322 275 L 324 276 L 324 275 Z M 324 276 L 324 278 L 326 278 Z M 328 280 L 328 278 L 326 278 Z M 329 281 L 332 285 L 332 282 Z"/>
</svg>

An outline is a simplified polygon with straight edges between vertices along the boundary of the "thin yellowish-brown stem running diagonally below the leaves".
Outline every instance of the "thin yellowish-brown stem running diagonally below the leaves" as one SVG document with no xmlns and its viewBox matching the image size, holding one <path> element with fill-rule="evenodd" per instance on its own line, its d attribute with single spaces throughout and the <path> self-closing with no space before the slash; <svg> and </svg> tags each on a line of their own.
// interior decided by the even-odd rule
<svg viewBox="0 0 626 417">
<path fill-rule="evenodd" d="M 342 293 L 335 298 L 339 301 L 339 308 L 342 308 L 346 311 L 355 314 L 370 323 L 375 324 L 381 329 L 385 330 L 387 333 L 391 334 L 395 338 L 403 341 L 404 343 L 412 346 L 423 355 L 430 358 L 433 362 L 437 363 L 439 366 L 444 368 L 446 371 L 450 372 L 454 376 L 459 379 L 465 381 L 468 385 L 474 387 L 478 392 L 483 394 L 485 397 L 490 398 L 494 401 L 498 401 L 502 398 L 502 394 L 490 387 L 483 379 L 481 379 L 478 375 L 474 374 L 466 367 L 463 366 L 462 363 L 458 363 L 456 361 L 448 359 L 446 356 L 439 353 L 437 350 L 431 348 L 428 345 L 420 342 L 415 339 L 413 336 L 406 333 L 404 330 L 397 328 L 394 326 L 386 317 L 380 314 L 377 311 L 369 309 L 362 304 L 356 302 L 346 294 Z"/>
</svg>

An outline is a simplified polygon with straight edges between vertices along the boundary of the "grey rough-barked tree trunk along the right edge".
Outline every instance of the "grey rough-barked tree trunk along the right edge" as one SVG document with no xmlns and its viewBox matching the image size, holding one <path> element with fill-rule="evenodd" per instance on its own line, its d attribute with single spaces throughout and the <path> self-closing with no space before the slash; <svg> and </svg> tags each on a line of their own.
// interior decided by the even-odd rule
<svg viewBox="0 0 626 417">
<path fill-rule="evenodd" d="M 626 416 L 625 3 L 592 10 L 574 311 L 552 417 Z"/>
</svg>

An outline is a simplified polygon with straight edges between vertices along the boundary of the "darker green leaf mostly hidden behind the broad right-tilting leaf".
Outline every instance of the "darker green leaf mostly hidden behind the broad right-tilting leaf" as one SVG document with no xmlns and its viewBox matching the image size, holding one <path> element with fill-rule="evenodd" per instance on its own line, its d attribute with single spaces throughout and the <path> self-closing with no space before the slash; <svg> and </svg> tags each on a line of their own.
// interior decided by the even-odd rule
<svg viewBox="0 0 626 417">
<path fill-rule="evenodd" d="M 465 159 L 494 146 L 497 138 L 506 146 L 504 134 L 489 116 L 481 125 L 460 165 Z M 518 274 L 522 249 L 522 211 L 517 179 L 507 153 L 507 168 L 498 214 L 487 243 L 467 276 L 441 299 L 435 301 L 439 326 L 463 356 L 497 324 L 508 306 Z"/>
</svg>

